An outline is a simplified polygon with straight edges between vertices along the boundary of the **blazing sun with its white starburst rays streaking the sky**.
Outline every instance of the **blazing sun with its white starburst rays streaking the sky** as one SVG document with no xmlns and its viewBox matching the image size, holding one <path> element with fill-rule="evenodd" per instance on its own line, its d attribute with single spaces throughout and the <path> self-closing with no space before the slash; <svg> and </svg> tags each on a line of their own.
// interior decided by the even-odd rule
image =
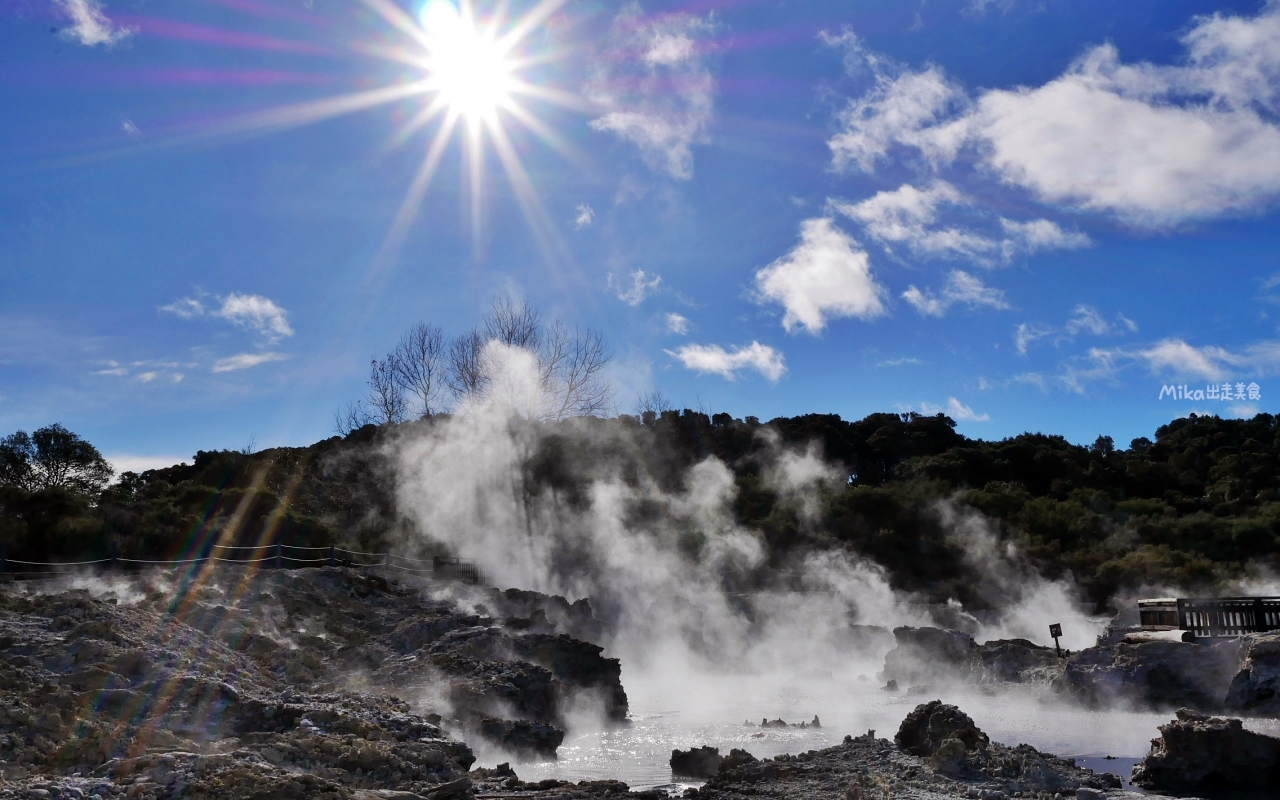
<svg viewBox="0 0 1280 800">
<path fill-rule="evenodd" d="M 278 9 L 273 10 L 273 6 L 259 0 L 206 1 L 256 18 L 280 15 L 275 13 Z M 312 63 L 316 56 L 335 59 L 347 54 L 394 65 L 396 69 L 394 74 L 384 74 L 381 79 L 376 77 L 380 74 L 379 69 L 369 69 L 360 81 L 358 90 L 314 100 L 198 122 L 164 124 L 156 120 L 151 125 L 143 124 L 146 136 L 134 137 L 128 143 L 56 157 L 45 161 L 42 166 L 65 168 L 111 161 L 314 125 L 383 106 L 420 104 L 408 113 L 408 120 L 388 137 L 389 148 L 399 148 L 417 141 L 424 131 L 429 132 L 422 142 L 422 159 L 375 251 L 366 283 L 378 279 L 397 261 L 402 244 L 419 220 L 433 180 L 453 147 L 458 152 L 465 196 L 458 210 L 463 220 L 470 220 L 475 252 L 480 252 L 484 238 L 483 219 L 490 186 L 488 165 L 492 163 L 509 182 L 518 207 L 548 261 L 556 264 L 567 260 L 567 248 L 559 239 L 557 227 L 541 211 L 535 180 L 522 161 L 522 157 L 527 157 L 525 147 L 520 137 L 515 136 L 517 131 L 527 133 L 531 141 L 545 145 L 559 156 L 581 161 L 570 141 L 539 118 L 539 109 L 552 106 L 590 111 L 585 99 L 556 87 L 545 74 L 545 69 L 563 58 L 563 52 L 547 45 L 548 38 L 541 32 L 567 0 L 538 0 L 532 6 L 525 5 L 517 12 L 511 9 L 508 0 L 497 0 L 485 8 L 474 0 L 417 1 L 421 5 L 411 13 L 396 0 L 360 0 L 385 28 L 381 35 L 366 31 L 346 40 L 334 38 L 343 29 L 342 26 L 329 24 L 314 15 L 285 17 L 292 22 L 306 22 L 312 31 L 321 31 L 320 41 L 311 41 L 312 37 L 306 33 L 294 41 L 257 32 L 140 17 L 136 22 L 143 36 L 210 47 L 305 56 L 312 59 Z M 211 87 L 323 84 L 339 79 L 338 76 L 339 73 L 316 72 L 314 68 L 298 73 L 259 68 L 242 74 L 225 69 L 182 67 L 157 72 L 150 82 Z M 20 169 L 32 166 L 28 163 Z"/>
</svg>

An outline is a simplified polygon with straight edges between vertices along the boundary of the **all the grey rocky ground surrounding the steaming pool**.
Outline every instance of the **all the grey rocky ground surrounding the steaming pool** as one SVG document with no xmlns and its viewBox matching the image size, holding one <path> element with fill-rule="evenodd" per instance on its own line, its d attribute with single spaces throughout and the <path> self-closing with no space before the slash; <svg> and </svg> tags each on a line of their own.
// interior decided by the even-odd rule
<svg viewBox="0 0 1280 800">
<path fill-rule="evenodd" d="M 406 584 L 342 567 L 110 580 L 92 593 L 0 590 L 5 800 L 666 797 L 617 781 L 525 782 L 508 764 L 471 768 L 466 741 L 507 750 L 517 769 L 522 758 L 553 755 L 571 708 L 622 723 L 621 667 L 590 641 L 602 630 L 585 600 Z M 1201 652 L 1175 650 L 1175 658 L 1151 648 L 1202 646 L 1101 643 L 1050 663 L 1044 648 L 1018 640 L 978 645 L 931 628 L 895 636 L 887 669 L 920 669 L 913 658 L 946 653 L 924 659 L 933 672 L 904 672 L 904 681 L 959 664 L 966 680 L 984 685 L 1052 685 L 1087 668 L 1119 669 L 1120 686 L 1134 675 L 1169 680 L 1183 673 L 1160 664 L 1190 664 Z M 1207 650 L 1226 664 L 1216 678 L 1225 681 L 1224 704 L 1271 708 L 1276 643 L 1238 643 L 1234 662 L 1225 648 Z M 1149 668 L 1125 672 L 1130 662 L 1121 655 Z M 1280 741 L 1242 731 L 1239 721 L 1180 712 L 1161 730 L 1138 773 L 1151 790 L 1197 791 L 1222 776 L 1239 782 L 1247 764 L 1261 772 L 1239 785 L 1277 786 Z M 741 750 L 684 755 L 692 760 L 676 772 L 709 778 L 686 792 L 700 800 L 1130 796 L 1112 776 L 1070 759 L 991 742 L 941 701 L 911 712 L 892 741 L 846 736 L 835 748 L 764 760 Z"/>
</svg>

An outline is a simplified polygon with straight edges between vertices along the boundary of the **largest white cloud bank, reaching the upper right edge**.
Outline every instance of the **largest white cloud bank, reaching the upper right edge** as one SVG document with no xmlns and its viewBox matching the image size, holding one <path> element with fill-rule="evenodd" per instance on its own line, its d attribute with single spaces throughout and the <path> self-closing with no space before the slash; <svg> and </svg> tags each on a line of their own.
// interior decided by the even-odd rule
<svg viewBox="0 0 1280 800">
<path fill-rule="evenodd" d="M 969 147 L 1038 198 L 1148 227 L 1257 207 L 1280 195 L 1280 3 L 1196 18 L 1187 65 L 1124 64 L 1112 45 L 1039 87 L 957 97 L 938 68 L 890 77 L 850 102 L 836 169 L 870 170 L 893 145 L 938 164 Z"/>
</svg>

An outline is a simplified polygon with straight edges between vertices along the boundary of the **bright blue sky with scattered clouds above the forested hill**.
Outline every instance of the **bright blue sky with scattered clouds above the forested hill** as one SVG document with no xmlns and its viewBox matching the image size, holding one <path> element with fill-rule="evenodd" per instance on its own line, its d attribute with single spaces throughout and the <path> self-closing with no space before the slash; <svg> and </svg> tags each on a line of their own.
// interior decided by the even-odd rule
<svg viewBox="0 0 1280 800">
<path fill-rule="evenodd" d="M 517 0 L 471 140 L 452 6 L 397 1 L 0 8 L 0 430 L 306 444 L 498 294 L 600 329 L 621 411 L 1275 411 L 1280 4 Z"/>
</svg>

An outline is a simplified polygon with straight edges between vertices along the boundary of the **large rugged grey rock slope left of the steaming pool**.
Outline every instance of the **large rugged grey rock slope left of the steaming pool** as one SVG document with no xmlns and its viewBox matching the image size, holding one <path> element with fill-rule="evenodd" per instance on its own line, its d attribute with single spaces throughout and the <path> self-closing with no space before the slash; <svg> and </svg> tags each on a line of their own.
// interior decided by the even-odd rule
<svg viewBox="0 0 1280 800">
<path fill-rule="evenodd" d="M 568 705 L 626 716 L 618 662 L 561 632 L 593 632 L 586 603 L 340 567 L 115 580 L 0 591 L 0 796 L 444 800 L 475 792 L 461 736 L 545 756 Z"/>
</svg>

